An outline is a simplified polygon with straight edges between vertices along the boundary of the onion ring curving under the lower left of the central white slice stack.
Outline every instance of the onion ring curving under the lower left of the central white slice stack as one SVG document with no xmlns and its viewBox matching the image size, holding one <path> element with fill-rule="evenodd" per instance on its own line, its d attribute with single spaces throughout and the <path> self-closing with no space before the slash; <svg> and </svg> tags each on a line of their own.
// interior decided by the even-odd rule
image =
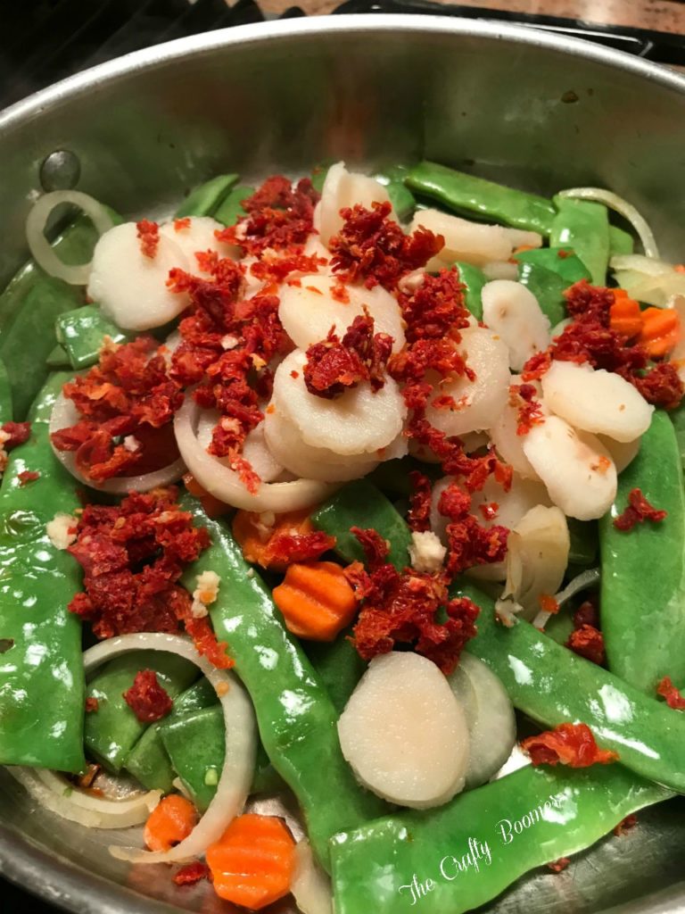
<svg viewBox="0 0 685 914">
<path fill-rule="evenodd" d="M 191 395 L 174 417 L 176 444 L 185 465 L 197 482 L 211 495 L 227 505 L 247 511 L 299 511 L 321 502 L 335 486 L 313 479 L 296 479 L 291 483 L 262 483 L 254 494 L 248 492 L 239 475 L 216 460 L 197 440 L 200 408 Z"/>
</svg>

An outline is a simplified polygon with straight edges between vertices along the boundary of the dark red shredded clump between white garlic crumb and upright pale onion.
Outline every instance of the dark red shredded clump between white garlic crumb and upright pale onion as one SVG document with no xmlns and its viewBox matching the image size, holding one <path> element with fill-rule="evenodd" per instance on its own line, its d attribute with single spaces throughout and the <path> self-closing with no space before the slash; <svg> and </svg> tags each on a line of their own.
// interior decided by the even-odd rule
<svg viewBox="0 0 685 914">
<path fill-rule="evenodd" d="M 438 512 L 448 517 L 447 573 L 451 578 L 477 565 L 501 562 L 507 552 L 509 529 L 506 526 L 482 526 L 471 514 L 471 496 L 449 484 L 440 494 Z"/>
</svg>

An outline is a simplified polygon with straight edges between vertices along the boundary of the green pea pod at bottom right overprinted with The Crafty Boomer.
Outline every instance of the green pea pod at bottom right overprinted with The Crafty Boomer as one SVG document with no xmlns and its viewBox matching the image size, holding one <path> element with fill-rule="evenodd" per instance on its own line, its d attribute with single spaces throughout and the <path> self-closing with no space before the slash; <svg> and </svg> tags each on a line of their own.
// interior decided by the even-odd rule
<svg viewBox="0 0 685 914">
<path fill-rule="evenodd" d="M 332 838 L 336 914 L 461 914 L 523 873 L 593 845 L 669 792 L 618 765 L 528 766 L 435 810 Z"/>
</svg>

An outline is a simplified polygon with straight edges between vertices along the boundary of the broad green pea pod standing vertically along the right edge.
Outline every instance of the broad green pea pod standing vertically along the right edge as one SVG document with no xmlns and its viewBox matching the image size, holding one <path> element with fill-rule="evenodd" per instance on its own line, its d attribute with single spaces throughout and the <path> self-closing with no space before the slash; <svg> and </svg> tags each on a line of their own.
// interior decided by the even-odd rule
<svg viewBox="0 0 685 914">
<path fill-rule="evenodd" d="M 622 532 L 613 521 L 635 488 L 669 513 L 659 524 Z M 663 410 L 654 413 L 638 456 L 618 477 L 616 501 L 599 531 L 609 669 L 650 696 L 665 675 L 685 685 L 685 494 L 676 432 Z"/>
</svg>

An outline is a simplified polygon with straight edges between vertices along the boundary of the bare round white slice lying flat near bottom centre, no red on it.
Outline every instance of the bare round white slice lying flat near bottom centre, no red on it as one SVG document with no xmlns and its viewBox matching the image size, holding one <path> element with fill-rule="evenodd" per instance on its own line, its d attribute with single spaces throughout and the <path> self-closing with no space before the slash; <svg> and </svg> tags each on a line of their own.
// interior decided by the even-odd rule
<svg viewBox="0 0 685 914">
<path fill-rule="evenodd" d="M 338 735 L 357 779 L 385 800 L 427 809 L 464 786 L 466 715 L 446 677 L 418 654 L 374 657 L 342 712 Z"/>
</svg>

